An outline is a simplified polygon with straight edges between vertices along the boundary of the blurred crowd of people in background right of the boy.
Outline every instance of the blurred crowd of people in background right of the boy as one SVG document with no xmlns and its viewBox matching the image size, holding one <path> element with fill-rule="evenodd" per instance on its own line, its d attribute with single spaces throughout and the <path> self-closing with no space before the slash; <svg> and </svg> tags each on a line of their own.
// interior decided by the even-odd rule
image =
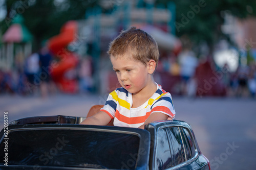
<svg viewBox="0 0 256 170">
<path fill-rule="evenodd" d="M 241 62 L 236 71 L 231 71 L 227 63 L 220 67 L 212 57 L 198 58 L 193 51 L 184 49 L 178 56 L 162 54 L 157 72 L 169 74 L 169 79 L 176 79 L 173 94 L 201 96 L 202 87 L 201 93 L 209 95 L 217 93 L 220 96 L 255 98 L 255 61 Z M 218 92 L 210 94 L 210 90 L 215 90 L 214 86 Z"/>
</svg>

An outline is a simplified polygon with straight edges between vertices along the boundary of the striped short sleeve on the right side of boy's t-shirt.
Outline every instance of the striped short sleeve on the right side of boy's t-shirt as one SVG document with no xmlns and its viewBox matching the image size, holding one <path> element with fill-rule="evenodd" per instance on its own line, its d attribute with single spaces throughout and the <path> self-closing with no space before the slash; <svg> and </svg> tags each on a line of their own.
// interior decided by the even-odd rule
<svg viewBox="0 0 256 170">
<path fill-rule="evenodd" d="M 161 96 L 151 107 L 151 114 L 160 112 L 168 115 L 170 118 L 175 117 L 175 109 L 173 106 L 172 96 L 167 93 L 166 95 Z"/>
</svg>

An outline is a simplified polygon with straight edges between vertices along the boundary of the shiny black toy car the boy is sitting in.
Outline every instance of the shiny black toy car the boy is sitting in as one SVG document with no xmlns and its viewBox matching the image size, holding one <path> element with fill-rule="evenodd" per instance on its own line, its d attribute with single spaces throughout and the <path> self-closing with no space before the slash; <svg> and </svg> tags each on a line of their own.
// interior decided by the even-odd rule
<svg viewBox="0 0 256 170">
<path fill-rule="evenodd" d="M 0 169 L 210 169 L 185 122 L 158 121 L 142 130 L 79 125 L 82 119 L 15 120 L 0 133 Z"/>
</svg>

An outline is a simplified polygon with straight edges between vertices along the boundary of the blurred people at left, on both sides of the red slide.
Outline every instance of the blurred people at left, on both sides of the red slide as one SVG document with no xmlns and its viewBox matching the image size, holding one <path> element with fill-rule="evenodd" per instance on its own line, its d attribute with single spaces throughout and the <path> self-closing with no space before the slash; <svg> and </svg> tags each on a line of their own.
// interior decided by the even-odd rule
<svg viewBox="0 0 256 170">
<path fill-rule="evenodd" d="M 46 98 L 61 90 L 52 78 L 52 64 L 56 58 L 46 46 L 32 52 L 22 60 L 23 54 L 15 56 L 14 68 L 4 71 L 0 69 L 0 94 L 40 95 Z M 92 60 L 90 57 L 80 58 L 77 67 L 67 71 L 66 77 L 77 80 L 77 92 L 92 91 Z"/>
</svg>

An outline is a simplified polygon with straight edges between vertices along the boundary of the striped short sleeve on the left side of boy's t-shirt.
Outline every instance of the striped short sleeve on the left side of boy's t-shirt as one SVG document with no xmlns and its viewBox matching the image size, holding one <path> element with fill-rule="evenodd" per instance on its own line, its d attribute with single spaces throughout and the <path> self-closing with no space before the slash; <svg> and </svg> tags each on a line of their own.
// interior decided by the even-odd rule
<svg viewBox="0 0 256 170">
<path fill-rule="evenodd" d="M 106 100 L 105 105 L 100 111 L 107 113 L 112 119 L 115 117 L 117 101 L 113 98 L 115 91 L 111 92 Z"/>
</svg>

